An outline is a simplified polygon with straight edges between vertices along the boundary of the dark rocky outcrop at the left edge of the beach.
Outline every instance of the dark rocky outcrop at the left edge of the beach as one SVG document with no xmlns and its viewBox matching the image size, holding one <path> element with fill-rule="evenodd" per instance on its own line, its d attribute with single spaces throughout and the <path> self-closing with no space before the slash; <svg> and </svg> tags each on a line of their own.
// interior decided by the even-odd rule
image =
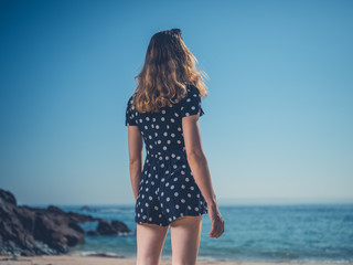
<svg viewBox="0 0 353 265">
<path fill-rule="evenodd" d="M 96 234 L 131 231 L 121 222 L 65 212 L 57 206 L 46 209 L 17 205 L 14 195 L 0 189 L 0 255 L 58 255 L 85 241 L 78 223 L 98 221 Z"/>
</svg>

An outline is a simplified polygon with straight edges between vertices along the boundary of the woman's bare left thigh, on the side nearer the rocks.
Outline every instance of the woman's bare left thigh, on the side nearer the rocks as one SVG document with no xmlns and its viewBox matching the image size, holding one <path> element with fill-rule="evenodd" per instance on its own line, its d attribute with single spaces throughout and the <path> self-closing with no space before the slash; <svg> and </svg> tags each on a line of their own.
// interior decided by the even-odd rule
<svg viewBox="0 0 353 265">
<path fill-rule="evenodd" d="M 137 224 L 137 265 L 159 264 L 169 226 Z"/>
</svg>

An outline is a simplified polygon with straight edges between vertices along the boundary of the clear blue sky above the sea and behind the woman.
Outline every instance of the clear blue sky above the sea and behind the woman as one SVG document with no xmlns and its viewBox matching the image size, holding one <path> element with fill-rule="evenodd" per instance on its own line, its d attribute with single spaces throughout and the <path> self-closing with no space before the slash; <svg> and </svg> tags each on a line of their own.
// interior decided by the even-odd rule
<svg viewBox="0 0 353 265">
<path fill-rule="evenodd" d="M 352 200 L 343 0 L 0 1 L 0 188 L 28 204 L 133 203 L 126 103 L 171 28 L 210 76 L 200 128 L 220 203 Z"/>
</svg>

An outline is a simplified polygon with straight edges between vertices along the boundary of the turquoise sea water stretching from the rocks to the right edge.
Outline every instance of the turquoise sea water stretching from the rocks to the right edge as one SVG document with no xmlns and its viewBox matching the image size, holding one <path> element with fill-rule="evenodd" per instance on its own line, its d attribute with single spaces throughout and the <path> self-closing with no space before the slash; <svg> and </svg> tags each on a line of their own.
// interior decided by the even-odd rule
<svg viewBox="0 0 353 265">
<path fill-rule="evenodd" d="M 72 252 L 107 252 L 136 256 L 133 205 L 61 206 L 105 220 L 120 220 L 133 232 L 125 236 L 86 236 Z M 203 215 L 200 259 L 263 262 L 353 262 L 353 204 L 291 204 L 218 206 L 225 233 L 211 239 L 208 215 Z M 97 223 L 82 224 L 94 230 Z M 170 232 L 162 256 L 171 256 Z"/>
</svg>

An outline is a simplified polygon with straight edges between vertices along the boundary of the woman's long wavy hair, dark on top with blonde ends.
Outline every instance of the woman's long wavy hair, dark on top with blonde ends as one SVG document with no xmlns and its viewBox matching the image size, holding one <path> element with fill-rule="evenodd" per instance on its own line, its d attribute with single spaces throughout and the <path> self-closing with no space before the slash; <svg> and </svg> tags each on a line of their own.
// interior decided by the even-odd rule
<svg viewBox="0 0 353 265">
<path fill-rule="evenodd" d="M 207 96 L 205 72 L 199 70 L 196 57 L 189 51 L 180 29 L 157 32 L 147 49 L 143 67 L 133 92 L 132 105 L 139 113 L 159 113 L 161 107 L 182 100 L 188 84 L 197 87 L 201 97 Z"/>
</svg>

